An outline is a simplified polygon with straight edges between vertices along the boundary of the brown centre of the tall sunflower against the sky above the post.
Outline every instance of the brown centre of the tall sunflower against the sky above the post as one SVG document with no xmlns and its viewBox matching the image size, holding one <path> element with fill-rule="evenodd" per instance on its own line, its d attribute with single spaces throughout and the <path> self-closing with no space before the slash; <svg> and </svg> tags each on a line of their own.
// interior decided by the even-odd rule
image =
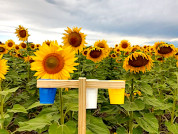
<svg viewBox="0 0 178 134">
<path fill-rule="evenodd" d="M 78 47 L 82 43 L 82 37 L 79 33 L 72 32 L 69 34 L 68 41 L 71 46 Z"/>
</svg>

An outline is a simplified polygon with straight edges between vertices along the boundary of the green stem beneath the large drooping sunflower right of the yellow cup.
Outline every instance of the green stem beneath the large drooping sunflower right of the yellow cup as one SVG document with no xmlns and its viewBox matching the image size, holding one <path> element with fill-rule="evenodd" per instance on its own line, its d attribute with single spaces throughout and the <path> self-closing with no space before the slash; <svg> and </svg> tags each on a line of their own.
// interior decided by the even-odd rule
<svg viewBox="0 0 178 134">
<path fill-rule="evenodd" d="M 133 79 L 131 83 L 131 93 L 130 93 L 130 101 L 133 102 Z M 130 120 L 129 120 L 129 134 L 133 134 L 133 111 L 129 112 Z"/>
</svg>

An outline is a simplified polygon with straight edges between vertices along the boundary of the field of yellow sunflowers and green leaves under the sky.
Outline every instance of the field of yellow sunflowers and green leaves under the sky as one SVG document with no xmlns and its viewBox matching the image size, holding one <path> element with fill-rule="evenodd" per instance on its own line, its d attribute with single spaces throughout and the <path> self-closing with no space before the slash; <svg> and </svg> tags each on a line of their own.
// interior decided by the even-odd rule
<svg viewBox="0 0 178 134">
<path fill-rule="evenodd" d="M 124 104 L 112 105 L 98 90 L 97 108 L 87 110 L 86 134 L 178 134 L 178 48 L 166 42 L 131 45 L 122 40 L 87 44 L 78 27 L 63 42 L 0 42 L 0 134 L 77 134 L 78 89 L 58 89 L 54 104 L 39 101 L 37 79 L 125 80 Z"/>
</svg>

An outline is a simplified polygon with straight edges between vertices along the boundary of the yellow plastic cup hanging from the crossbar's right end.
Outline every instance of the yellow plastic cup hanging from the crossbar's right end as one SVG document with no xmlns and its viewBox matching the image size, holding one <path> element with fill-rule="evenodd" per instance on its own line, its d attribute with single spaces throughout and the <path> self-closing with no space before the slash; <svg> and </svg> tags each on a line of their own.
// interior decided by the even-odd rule
<svg viewBox="0 0 178 134">
<path fill-rule="evenodd" d="M 119 80 L 115 80 L 119 81 Z M 125 88 L 122 89 L 108 89 L 110 104 L 124 104 Z"/>
</svg>

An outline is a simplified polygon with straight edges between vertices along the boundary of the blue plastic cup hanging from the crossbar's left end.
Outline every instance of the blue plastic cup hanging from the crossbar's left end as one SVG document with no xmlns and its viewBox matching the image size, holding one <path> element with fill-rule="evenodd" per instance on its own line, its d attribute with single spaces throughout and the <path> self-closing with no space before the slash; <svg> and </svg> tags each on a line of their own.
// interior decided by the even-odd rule
<svg viewBox="0 0 178 134">
<path fill-rule="evenodd" d="M 40 79 L 51 80 L 51 79 Z M 41 104 L 54 104 L 57 88 L 39 88 L 40 103 Z"/>
</svg>

